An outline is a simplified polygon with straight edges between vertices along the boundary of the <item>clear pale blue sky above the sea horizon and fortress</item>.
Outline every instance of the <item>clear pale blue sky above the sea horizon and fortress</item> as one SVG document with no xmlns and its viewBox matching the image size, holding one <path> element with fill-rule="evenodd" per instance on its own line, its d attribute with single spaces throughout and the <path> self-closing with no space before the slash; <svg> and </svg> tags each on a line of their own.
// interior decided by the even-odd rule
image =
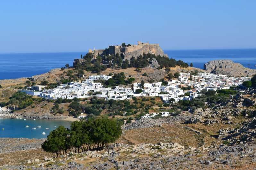
<svg viewBox="0 0 256 170">
<path fill-rule="evenodd" d="M 256 48 L 255 0 L 3 0 L 0 53 Z"/>
</svg>

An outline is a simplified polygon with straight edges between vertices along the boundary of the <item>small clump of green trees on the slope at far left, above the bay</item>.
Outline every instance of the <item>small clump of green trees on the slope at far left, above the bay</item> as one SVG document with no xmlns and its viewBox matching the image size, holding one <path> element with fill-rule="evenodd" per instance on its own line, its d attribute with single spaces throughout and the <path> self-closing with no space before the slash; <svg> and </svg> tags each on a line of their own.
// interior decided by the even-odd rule
<svg viewBox="0 0 256 170">
<path fill-rule="evenodd" d="M 10 97 L 9 102 L 6 104 L 12 104 L 18 106 L 18 108 L 26 108 L 33 104 L 33 98 L 30 95 L 26 95 L 24 92 L 15 92 L 12 97 Z"/>
</svg>

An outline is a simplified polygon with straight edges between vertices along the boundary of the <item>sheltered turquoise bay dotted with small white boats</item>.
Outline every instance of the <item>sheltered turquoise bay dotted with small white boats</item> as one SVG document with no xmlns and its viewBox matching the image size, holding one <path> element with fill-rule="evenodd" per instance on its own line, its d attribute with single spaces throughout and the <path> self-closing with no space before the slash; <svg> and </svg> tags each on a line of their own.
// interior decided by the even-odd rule
<svg viewBox="0 0 256 170">
<path fill-rule="evenodd" d="M 12 138 L 47 138 L 50 131 L 55 130 L 58 126 L 64 126 L 70 128 L 69 121 L 65 120 L 33 120 L 33 119 L 10 119 L 0 118 L 0 137 L 12 137 Z M 25 125 L 29 125 L 28 128 Z M 40 125 L 41 128 L 37 126 Z M 56 126 L 56 127 L 54 127 Z M 4 130 L 3 130 L 4 128 Z M 32 128 L 36 128 L 35 130 Z M 49 128 L 46 130 L 45 128 Z M 46 135 L 42 135 L 42 132 L 46 132 Z"/>
</svg>

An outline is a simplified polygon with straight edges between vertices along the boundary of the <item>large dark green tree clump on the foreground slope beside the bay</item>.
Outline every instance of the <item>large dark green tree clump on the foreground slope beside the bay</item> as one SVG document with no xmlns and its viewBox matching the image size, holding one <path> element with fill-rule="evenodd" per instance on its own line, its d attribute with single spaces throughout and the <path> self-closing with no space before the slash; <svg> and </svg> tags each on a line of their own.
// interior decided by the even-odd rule
<svg viewBox="0 0 256 170">
<path fill-rule="evenodd" d="M 51 131 L 41 148 L 47 152 L 67 154 L 67 151 L 79 153 L 88 150 L 101 150 L 108 143 L 113 143 L 121 135 L 122 121 L 108 119 L 89 119 L 75 121 L 71 128 L 59 126 Z"/>
</svg>

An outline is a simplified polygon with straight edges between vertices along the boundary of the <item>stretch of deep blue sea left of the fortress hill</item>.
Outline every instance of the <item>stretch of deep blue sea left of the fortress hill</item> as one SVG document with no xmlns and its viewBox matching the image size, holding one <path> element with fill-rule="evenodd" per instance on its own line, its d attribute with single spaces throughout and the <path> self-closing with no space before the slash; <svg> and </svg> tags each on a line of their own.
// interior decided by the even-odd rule
<svg viewBox="0 0 256 170">
<path fill-rule="evenodd" d="M 74 58 L 87 52 L 0 54 L 0 80 L 31 77 L 54 68 L 73 65 Z"/>
</svg>

